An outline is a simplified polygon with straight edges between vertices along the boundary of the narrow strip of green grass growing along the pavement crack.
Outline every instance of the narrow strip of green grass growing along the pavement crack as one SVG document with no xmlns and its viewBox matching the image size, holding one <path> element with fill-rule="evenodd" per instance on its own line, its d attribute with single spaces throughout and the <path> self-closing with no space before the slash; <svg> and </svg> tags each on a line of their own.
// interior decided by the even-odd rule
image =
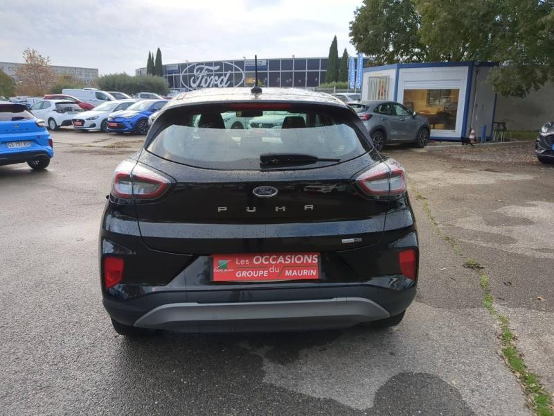
<svg viewBox="0 0 554 416">
<path fill-rule="evenodd" d="M 458 248 L 458 245 L 454 239 L 445 235 L 440 230 L 438 222 L 435 220 L 431 211 L 429 200 L 422 196 L 418 189 L 414 188 L 414 192 L 415 198 L 422 201 L 425 214 L 427 214 L 427 217 L 429 218 L 436 234 L 440 236 L 440 238 L 447 241 L 456 254 L 465 257 L 460 248 Z M 466 258 L 463 266 L 465 268 L 475 270 L 479 276 L 479 284 L 481 286 L 481 290 L 483 291 L 483 306 L 499 324 L 499 339 L 501 343 L 502 356 L 506 362 L 506 365 L 508 365 L 508 368 L 517 377 L 521 387 L 524 389 L 530 407 L 533 408 L 537 416 L 554 416 L 554 406 L 551 401 L 551 396 L 544 390 L 544 387 L 541 385 L 538 377 L 528 370 L 523 356 L 521 356 L 521 353 L 517 350 L 517 345 L 515 344 L 516 337 L 510 330 L 510 320 L 494 308 L 494 297 L 492 297 L 492 294 L 490 293 L 489 278 L 483 271 L 483 266 L 481 266 L 478 261 L 471 258 Z"/>
</svg>

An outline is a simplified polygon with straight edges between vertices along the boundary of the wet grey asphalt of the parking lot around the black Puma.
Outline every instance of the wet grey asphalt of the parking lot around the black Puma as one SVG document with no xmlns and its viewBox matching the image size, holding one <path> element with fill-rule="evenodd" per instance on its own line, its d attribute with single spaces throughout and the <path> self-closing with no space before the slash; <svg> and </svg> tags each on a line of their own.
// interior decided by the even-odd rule
<svg viewBox="0 0 554 416">
<path fill-rule="evenodd" d="M 142 138 L 52 136 L 47 171 L 0 167 L 1 415 L 533 414 L 499 356 L 478 277 L 413 193 L 483 264 L 526 358 L 535 351 L 539 363 L 553 345 L 532 332 L 541 322 L 548 337 L 553 322 L 543 218 L 553 169 L 386 151 L 409 172 L 422 250 L 418 297 L 398 327 L 127 340 L 102 308 L 97 238 L 111 172 Z"/>
</svg>

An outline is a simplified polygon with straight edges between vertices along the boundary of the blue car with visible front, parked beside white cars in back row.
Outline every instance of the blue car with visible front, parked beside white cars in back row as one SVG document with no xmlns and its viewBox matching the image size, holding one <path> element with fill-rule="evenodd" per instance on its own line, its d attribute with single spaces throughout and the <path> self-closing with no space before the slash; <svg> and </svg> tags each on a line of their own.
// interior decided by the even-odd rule
<svg viewBox="0 0 554 416">
<path fill-rule="evenodd" d="M 113 112 L 108 117 L 107 131 L 145 135 L 148 133 L 148 117 L 161 110 L 166 103 L 168 100 L 142 100 L 127 110 Z"/>
</svg>

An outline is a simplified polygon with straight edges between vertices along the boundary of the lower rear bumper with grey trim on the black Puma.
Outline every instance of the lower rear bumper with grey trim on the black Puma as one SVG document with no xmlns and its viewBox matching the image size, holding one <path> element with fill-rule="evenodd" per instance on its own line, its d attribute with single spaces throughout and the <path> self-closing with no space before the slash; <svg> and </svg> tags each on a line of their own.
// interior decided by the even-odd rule
<svg viewBox="0 0 554 416">
<path fill-rule="evenodd" d="M 104 297 L 103 304 L 114 320 L 143 328 L 184 332 L 343 328 L 402 313 L 415 297 L 415 286 L 393 290 L 357 284 L 288 290 L 267 288 L 259 292 L 243 293 L 241 299 L 253 297 L 256 301 L 252 302 L 202 302 L 206 300 L 202 294 L 174 291 L 132 300 Z M 258 300 L 260 297 L 263 300 Z"/>
</svg>

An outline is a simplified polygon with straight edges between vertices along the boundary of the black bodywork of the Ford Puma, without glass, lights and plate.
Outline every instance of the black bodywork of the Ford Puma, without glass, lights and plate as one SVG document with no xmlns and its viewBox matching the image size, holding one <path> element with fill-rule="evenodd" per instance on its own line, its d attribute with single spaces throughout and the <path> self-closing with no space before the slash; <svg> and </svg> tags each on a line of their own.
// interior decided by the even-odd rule
<svg viewBox="0 0 554 416">
<path fill-rule="evenodd" d="M 417 282 L 417 265 L 409 278 L 398 260 L 403 250 L 418 253 L 409 198 L 405 192 L 370 198 L 360 191 L 359 174 L 388 161 L 371 150 L 364 125 L 339 100 L 307 92 L 262 94 L 263 103 L 334 107 L 352 120 L 368 150 L 345 162 L 226 170 L 148 150 L 163 121 L 186 107 L 251 102 L 244 90 L 232 90 L 189 93 L 161 110 L 144 149 L 129 163 L 163 175 L 168 189 L 162 196 L 109 196 L 100 227 L 100 283 L 111 318 L 179 331 L 271 331 L 345 327 L 402 313 Z M 276 195 L 260 198 L 253 192 L 258 187 L 276 189 Z M 319 253 L 319 279 L 213 279 L 213 254 L 285 252 Z M 123 259 L 125 269 L 107 288 L 102 277 L 109 257 Z"/>
</svg>

